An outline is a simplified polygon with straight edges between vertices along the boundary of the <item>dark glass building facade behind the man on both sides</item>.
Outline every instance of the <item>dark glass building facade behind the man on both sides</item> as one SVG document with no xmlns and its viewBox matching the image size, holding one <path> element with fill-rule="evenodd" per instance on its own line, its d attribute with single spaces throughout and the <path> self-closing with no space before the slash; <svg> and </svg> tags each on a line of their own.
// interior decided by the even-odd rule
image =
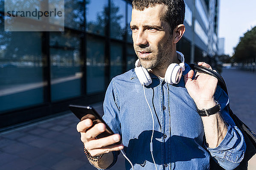
<svg viewBox="0 0 256 170">
<path fill-rule="evenodd" d="M 0 0 L 0 129 L 67 111 L 69 104 L 102 102 L 111 79 L 134 68 L 131 0 L 64 2 L 64 31 L 4 31 Z M 188 63 L 192 49 L 200 57 L 214 49 L 207 2 L 186 0 L 186 34 L 177 50 Z"/>
</svg>

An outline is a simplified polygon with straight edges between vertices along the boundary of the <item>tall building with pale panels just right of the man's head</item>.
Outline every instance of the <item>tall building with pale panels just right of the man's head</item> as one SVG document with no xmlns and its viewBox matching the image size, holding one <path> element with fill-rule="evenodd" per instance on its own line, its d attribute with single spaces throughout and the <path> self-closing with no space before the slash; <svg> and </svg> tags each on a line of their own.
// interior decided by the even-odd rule
<svg viewBox="0 0 256 170">
<path fill-rule="evenodd" d="M 206 56 L 214 56 L 218 52 L 218 0 L 185 0 L 185 2 L 184 37 L 201 51 L 194 56 L 193 62 Z"/>
</svg>

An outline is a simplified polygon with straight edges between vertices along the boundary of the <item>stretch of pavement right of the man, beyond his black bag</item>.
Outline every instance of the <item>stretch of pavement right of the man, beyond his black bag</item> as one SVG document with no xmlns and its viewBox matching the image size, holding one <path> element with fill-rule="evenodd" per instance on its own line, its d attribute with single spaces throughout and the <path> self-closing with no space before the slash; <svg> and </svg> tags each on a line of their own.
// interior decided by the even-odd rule
<svg viewBox="0 0 256 170">
<path fill-rule="evenodd" d="M 256 73 L 223 69 L 230 97 L 230 108 L 251 130 L 256 132 Z M 250 159 L 248 170 L 256 170 L 256 155 Z"/>
</svg>

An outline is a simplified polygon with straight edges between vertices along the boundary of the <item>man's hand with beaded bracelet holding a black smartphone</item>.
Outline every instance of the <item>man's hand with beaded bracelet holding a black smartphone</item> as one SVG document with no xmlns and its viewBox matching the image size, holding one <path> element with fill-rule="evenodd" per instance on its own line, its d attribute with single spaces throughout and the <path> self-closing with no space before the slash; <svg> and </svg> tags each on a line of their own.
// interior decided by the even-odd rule
<svg viewBox="0 0 256 170">
<path fill-rule="evenodd" d="M 81 120 L 76 129 L 81 133 L 81 141 L 90 163 L 99 169 L 106 169 L 113 162 L 112 151 L 124 148 L 121 136 L 114 134 L 92 107 L 70 105 L 69 108 Z M 100 159 L 95 157 L 101 155 Z"/>
</svg>

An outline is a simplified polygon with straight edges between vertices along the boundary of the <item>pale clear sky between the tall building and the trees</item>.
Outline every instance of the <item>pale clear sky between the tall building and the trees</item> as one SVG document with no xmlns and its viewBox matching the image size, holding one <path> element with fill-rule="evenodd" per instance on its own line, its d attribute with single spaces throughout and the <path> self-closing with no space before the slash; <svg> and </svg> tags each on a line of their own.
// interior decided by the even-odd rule
<svg viewBox="0 0 256 170">
<path fill-rule="evenodd" d="M 233 55 L 233 48 L 245 32 L 256 26 L 256 0 L 220 0 L 218 37 L 225 38 L 225 54 Z"/>
</svg>

